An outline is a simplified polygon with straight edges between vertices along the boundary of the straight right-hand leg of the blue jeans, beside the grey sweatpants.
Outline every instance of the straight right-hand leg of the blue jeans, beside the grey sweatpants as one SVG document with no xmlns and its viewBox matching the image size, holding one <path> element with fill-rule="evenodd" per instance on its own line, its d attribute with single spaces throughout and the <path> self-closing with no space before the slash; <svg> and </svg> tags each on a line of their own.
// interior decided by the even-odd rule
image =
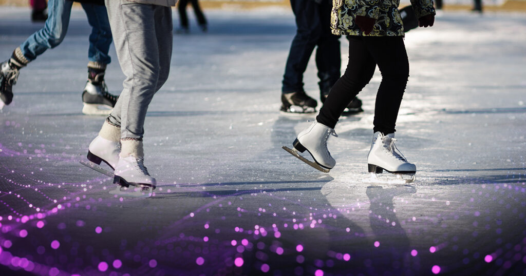
<svg viewBox="0 0 526 276">
<path fill-rule="evenodd" d="M 109 64 L 109 45 L 112 44 L 112 29 L 109 27 L 108 12 L 106 6 L 96 4 L 82 4 L 84 12 L 88 17 L 88 23 L 92 26 L 89 35 L 88 59 L 90 62 Z"/>
</svg>

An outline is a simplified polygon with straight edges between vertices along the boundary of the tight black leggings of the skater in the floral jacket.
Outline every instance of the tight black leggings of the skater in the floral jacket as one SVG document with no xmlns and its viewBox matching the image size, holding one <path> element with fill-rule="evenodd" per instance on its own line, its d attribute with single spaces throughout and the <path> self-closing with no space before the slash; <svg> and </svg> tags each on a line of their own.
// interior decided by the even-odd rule
<svg viewBox="0 0 526 276">
<path fill-rule="evenodd" d="M 398 110 L 409 78 L 409 61 L 401 36 L 351 36 L 347 69 L 332 86 L 316 120 L 334 128 L 343 110 L 371 80 L 376 65 L 382 81 L 376 94 L 373 130 L 383 134 L 395 132 Z"/>
</svg>

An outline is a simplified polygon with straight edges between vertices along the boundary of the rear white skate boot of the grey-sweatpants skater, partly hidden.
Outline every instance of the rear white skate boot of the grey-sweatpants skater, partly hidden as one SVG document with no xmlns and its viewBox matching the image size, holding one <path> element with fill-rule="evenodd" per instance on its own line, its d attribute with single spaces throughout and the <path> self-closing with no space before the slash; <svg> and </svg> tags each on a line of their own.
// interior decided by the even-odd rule
<svg viewBox="0 0 526 276">
<path fill-rule="evenodd" d="M 93 139 L 88 148 L 88 160 L 100 165 L 104 161 L 115 169 L 119 162 L 120 128 L 104 122 L 99 135 Z"/>
</svg>

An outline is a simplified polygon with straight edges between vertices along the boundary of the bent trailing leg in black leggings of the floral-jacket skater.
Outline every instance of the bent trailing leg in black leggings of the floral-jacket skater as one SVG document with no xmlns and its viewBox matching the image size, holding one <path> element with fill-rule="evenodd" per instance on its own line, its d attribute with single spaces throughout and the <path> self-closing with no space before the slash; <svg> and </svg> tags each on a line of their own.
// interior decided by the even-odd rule
<svg viewBox="0 0 526 276">
<path fill-rule="evenodd" d="M 334 128 L 350 101 L 369 83 L 375 73 L 375 68 L 375 60 L 363 42 L 363 37 L 351 36 L 347 69 L 332 86 L 316 120 L 325 126 Z"/>
</svg>

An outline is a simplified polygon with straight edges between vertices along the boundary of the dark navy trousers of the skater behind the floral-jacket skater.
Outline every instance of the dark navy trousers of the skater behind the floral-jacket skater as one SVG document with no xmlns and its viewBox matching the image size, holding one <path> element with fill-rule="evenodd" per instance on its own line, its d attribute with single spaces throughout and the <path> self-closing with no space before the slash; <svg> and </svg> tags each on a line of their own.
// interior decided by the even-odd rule
<svg viewBox="0 0 526 276">
<path fill-rule="evenodd" d="M 296 16 L 297 30 L 290 45 L 281 91 L 303 91 L 303 74 L 314 48 L 318 46 L 318 84 L 320 92 L 328 94 L 340 77 L 341 66 L 339 36 L 331 34 L 330 30 L 332 1 L 322 0 L 318 4 L 313 0 L 290 0 L 290 5 Z"/>
</svg>

